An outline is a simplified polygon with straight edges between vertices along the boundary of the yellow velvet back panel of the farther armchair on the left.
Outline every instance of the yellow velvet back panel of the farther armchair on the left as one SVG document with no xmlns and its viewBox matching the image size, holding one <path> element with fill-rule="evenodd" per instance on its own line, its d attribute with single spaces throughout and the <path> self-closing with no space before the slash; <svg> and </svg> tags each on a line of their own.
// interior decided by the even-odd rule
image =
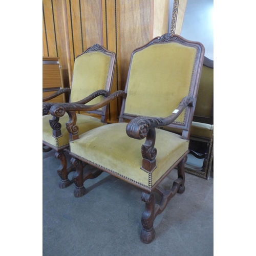
<svg viewBox="0 0 256 256">
<path fill-rule="evenodd" d="M 101 52 L 85 53 L 75 59 L 71 102 L 79 101 L 97 90 L 105 90 L 110 61 L 111 57 Z M 102 99 L 103 96 L 99 96 L 90 101 L 90 105 Z"/>
</svg>

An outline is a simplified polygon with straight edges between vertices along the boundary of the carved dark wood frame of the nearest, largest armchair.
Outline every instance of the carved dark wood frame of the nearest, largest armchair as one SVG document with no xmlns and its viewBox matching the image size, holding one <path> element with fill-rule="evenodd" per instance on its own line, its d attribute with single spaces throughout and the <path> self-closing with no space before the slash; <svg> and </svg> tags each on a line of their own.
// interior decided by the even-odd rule
<svg viewBox="0 0 256 256">
<path fill-rule="evenodd" d="M 135 52 L 140 51 L 148 46 L 155 45 L 155 44 L 166 44 L 171 42 L 178 42 L 179 44 L 194 47 L 197 49 L 197 55 L 194 65 L 194 75 L 193 75 L 193 81 L 191 82 L 190 92 L 189 95 L 180 102 L 180 104 L 177 106 L 177 109 L 179 110 L 178 113 L 172 114 L 165 118 L 157 118 L 157 117 L 135 117 L 132 115 L 124 114 L 124 104 L 125 104 L 125 98 L 127 95 L 127 87 L 128 87 L 128 81 L 129 81 L 129 75 L 130 75 L 130 69 L 131 69 L 131 63 L 132 58 Z M 130 119 L 131 121 L 126 126 L 126 133 L 129 137 L 135 138 L 135 139 L 143 139 L 146 138 L 145 143 L 142 145 L 142 168 L 147 170 L 147 172 L 152 172 L 155 167 L 155 161 L 156 161 L 156 155 L 157 150 L 154 147 L 155 140 L 156 140 L 156 132 L 155 129 L 157 127 L 162 127 L 163 125 L 169 125 L 174 127 L 179 127 L 183 130 L 182 132 L 182 138 L 188 139 L 189 138 L 189 132 L 190 132 L 190 126 L 193 119 L 193 114 L 195 110 L 195 103 L 198 93 L 198 87 L 199 87 L 199 80 L 201 76 L 202 71 L 202 64 L 203 64 L 203 57 L 204 57 L 204 47 L 199 42 L 192 42 L 185 40 L 183 37 L 178 35 L 171 35 L 171 34 L 164 34 L 161 37 L 156 37 L 153 40 L 151 40 L 148 44 L 146 44 L 143 47 L 140 47 L 136 49 L 132 53 L 130 67 L 129 67 L 129 73 L 128 78 L 126 80 L 126 87 L 125 91 L 118 91 L 116 92 L 112 97 L 109 96 L 105 100 L 103 100 L 99 104 L 95 105 L 80 105 L 80 104 L 54 104 L 52 108 L 50 109 L 50 113 L 53 115 L 53 119 L 56 117 L 59 118 L 65 114 L 67 111 L 70 120 L 67 123 L 67 129 L 70 133 L 70 140 L 79 139 L 77 135 L 77 126 L 76 126 L 76 113 L 75 111 L 83 111 L 83 110 L 93 110 L 96 108 L 99 108 L 102 104 L 108 104 L 111 100 L 113 100 L 116 97 L 123 97 L 122 100 L 122 108 L 121 108 L 121 114 L 119 118 L 119 122 L 123 122 L 124 119 Z M 154 102 L 153 102 L 154 103 Z M 181 112 L 186 109 L 186 115 L 184 123 L 175 123 L 175 119 L 181 114 Z M 72 129 L 71 129 L 72 127 Z M 142 223 L 142 230 L 141 230 L 141 236 L 140 239 L 143 243 L 151 243 L 155 238 L 155 229 L 154 229 L 154 220 L 157 215 L 161 214 L 161 212 L 165 209 L 168 201 L 172 199 L 176 193 L 182 194 L 185 191 L 185 173 L 184 173 L 184 165 L 187 159 L 187 154 L 189 151 L 186 151 L 185 154 L 180 158 L 177 159 L 175 164 L 173 164 L 168 171 L 159 179 L 159 181 L 154 184 L 152 188 L 146 188 L 138 183 L 132 182 L 131 180 L 126 179 L 125 177 L 121 177 L 118 174 L 112 173 L 110 170 L 98 166 L 96 164 L 93 164 L 75 154 L 70 152 L 70 155 L 72 156 L 72 163 L 76 167 L 76 173 L 73 176 L 74 183 L 76 185 L 76 188 L 74 190 L 74 195 L 76 197 L 81 197 L 84 194 L 86 194 L 86 188 L 83 186 L 83 183 L 88 178 L 94 178 L 100 175 L 102 171 L 107 172 L 115 177 L 118 177 L 126 182 L 129 182 L 137 187 L 142 188 L 142 194 L 141 194 L 141 200 L 145 202 L 145 209 L 142 213 L 141 217 L 141 223 Z M 99 169 L 99 171 L 96 174 L 83 173 L 83 167 L 82 163 L 90 164 Z M 159 185 L 161 181 L 176 167 L 178 166 L 178 178 L 174 181 L 173 186 L 170 187 L 170 189 L 163 189 Z M 158 193 L 161 196 L 160 203 L 155 202 L 155 196 L 154 192 Z"/>
</svg>

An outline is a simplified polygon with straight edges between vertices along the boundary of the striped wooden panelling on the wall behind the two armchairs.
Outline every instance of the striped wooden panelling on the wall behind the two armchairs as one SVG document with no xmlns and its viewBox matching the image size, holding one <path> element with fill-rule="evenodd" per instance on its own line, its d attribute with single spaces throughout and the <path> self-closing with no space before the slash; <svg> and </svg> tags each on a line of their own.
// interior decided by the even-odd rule
<svg viewBox="0 0 256 256">
<path fill-rule="evenodd" d="M 174 4 L 177 11 L 179 1 Z M 169 0 L 43 0 L 42 55 L 60 57 L 70 87 L 76 56 L 103 45 L 117 54 L 112 92 L 124 90 L 132 51 L 167 33 L 168 18 Z M 111 102 L 108 121 L 118 120 L 120 107 L 119 100 Z"/>
</svg>

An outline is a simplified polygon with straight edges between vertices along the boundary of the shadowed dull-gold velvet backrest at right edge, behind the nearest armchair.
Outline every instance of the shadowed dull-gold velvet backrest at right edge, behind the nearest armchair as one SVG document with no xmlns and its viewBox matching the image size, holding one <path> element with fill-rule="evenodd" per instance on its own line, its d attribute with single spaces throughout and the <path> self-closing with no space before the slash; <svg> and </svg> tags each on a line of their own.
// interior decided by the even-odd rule
<svg viewBox="0 0 256 256">
<path fill-rule="evenodd" d="M 203 66 L 194 115 L 210 118 L 213 99 L 214 69 Z"/>
</svg>

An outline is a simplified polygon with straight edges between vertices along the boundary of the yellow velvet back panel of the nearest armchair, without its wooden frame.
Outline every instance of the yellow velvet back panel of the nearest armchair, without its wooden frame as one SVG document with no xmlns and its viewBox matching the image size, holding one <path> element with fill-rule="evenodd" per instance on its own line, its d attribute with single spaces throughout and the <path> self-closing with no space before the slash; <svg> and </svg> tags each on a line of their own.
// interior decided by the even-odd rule
<svg viewBox="0 0 256 256">
<path fill-rule="evenodd" d="M 176 42 L 153 45 L 136 52 L 124 113 L 154 117 L 171 115 L 189 93 L 195 56 L 195 48 Z M 176 122 L 184 122 L 184 113 Z"/>
</svg>

